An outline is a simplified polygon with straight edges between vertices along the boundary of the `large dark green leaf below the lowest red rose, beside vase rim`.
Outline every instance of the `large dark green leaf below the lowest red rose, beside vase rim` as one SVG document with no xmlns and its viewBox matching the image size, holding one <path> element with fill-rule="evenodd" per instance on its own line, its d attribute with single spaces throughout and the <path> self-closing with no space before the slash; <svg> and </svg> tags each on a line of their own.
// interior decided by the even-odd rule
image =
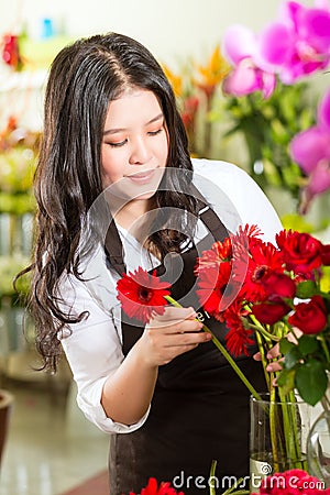
<svg viewBox="0 0 330 495">
<path fill-rule="evenodd" d="M 324 395 L 328 377 L 322 363 L 309 360 L 296 371 L 296 386 L 301 398 L 315 406 Z"/>
</svg>

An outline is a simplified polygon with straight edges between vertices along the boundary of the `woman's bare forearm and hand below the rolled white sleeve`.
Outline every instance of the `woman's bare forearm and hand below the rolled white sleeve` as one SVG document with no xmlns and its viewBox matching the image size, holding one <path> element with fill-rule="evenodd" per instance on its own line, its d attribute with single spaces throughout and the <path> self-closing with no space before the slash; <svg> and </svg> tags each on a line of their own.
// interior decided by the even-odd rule
<svg viewBox="0 0 330 495">
<path fill-rule="evenodd" d="M 155 315 L 105 383 L 101 402 L 109 418 L 124 425 L 139 421 L 153 398 L 158 366 L 211 339 L 196 317 L 193 308 L 172 306 Z"/>
</svg>

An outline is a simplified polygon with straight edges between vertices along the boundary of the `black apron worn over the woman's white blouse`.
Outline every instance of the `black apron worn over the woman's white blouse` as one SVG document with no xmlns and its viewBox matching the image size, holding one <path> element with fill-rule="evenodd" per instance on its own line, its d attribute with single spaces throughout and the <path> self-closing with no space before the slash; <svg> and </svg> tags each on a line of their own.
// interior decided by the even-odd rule
<svg viewBox="0 0 330 495">
<path fill-rule="evenodd" d="M 200 219 L 212 233 L 202 241 L 202 249 L 210 249 L 215 240 L 223 241 L 228 235 L 213 210 L 207 209 Z M 122 246 L 113 226 L 112 222 L 107 234 L 106 252 L 111 266 L 122 274 Z M 196 246 L 180 256 L 184 271 L 170 289 L 177 300 L 195 283 Z M 164 266 L 161 265 L 157 274 L 162 275 L 163 272 Z M 194 307 L 202 312 L 198 306 Z M 206 318 L 205 322 L 224 343 L 227 327 L 215 318 Z M 124 355 L 140 339 L 143 330 L 122 323 Z M 256 349 L 251 349 L 253 352 Z M 258 362 L 245 355 L 237 359 L 237 362 L 257 391 L 266 389 Z M 172 486 L 186 495 L 209 494 L 212 460 L 217 461 L 217 494 L 233 484 L 234 479 L 230 476 L 248 476 L 249 397 L 246 386 L 212 342 L 202 343 L 160 366 L 145 424 L 131 433 L 111 435 L 110 494 L 139 494 L 151 476 L 158 482 L 170 482 Z"/>
</svg>

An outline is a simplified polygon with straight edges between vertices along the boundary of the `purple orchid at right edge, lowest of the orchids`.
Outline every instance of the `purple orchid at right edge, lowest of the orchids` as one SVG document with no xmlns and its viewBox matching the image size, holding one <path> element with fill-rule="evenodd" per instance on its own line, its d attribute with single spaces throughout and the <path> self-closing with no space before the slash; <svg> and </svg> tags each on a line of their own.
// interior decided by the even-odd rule
<svg viewBox="0 0 330 495">
<path fill-rule="evenodd" d="M 308 176 L 305 188 L 308 205 L 315 195 L 330 188 L 330 90 L 319 103 L 317 124 L 296 134 L 289 150 Z"/>
</svg>

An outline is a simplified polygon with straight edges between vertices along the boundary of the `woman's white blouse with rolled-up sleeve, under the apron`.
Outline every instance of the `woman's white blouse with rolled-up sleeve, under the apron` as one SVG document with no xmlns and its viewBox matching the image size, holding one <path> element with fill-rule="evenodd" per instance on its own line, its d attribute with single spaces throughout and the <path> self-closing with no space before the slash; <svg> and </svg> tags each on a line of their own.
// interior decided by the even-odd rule
<svg viewBox="0 0 330 495">
<path fill-rule="evenodd" d="M 254 223 L 263 232 L 263 240 L 274 242 L 282 229 L 280 221 L 268 199 L 254 180 L 240 167 L 220 161 L 193 160 L 194 184 L 209 201 L 228 230 L 234 232 L 239 224 Z M 150 256 L 139 242 L 118 226 L 128 271 L 139 266 L 152 270 L 160 261 Z M 199 221 L 196 241 L 207 234 Z M 85 416 L 106 432 L 127 433 L 138 429 L 146 415 L 134 425 L 122 425 L 107 417 L 101 406 L 102 387 L 107 378 L 123 361 L 120 315 L 116 283 L 119 275 L 106 266 L 101 245 L 84 266 L 80 282 L 74 276 L 62 284 L 65 304 L 75 314 L 88 311 L 89 316 L 70 326 L 72 333 L 58 337 L 77 384 L 77 403 Z"/>
</svg>

